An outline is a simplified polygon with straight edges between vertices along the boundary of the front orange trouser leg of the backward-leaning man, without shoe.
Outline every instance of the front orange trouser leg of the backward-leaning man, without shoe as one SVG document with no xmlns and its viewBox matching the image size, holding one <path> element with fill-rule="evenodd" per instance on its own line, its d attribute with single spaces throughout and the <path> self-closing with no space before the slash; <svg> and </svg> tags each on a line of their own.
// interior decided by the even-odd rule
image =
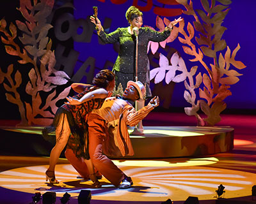
<svg viewBox="0 0 256 204">
<path fill-rule="evenodd" d="M 89 154 L 92 159 L 92 163 L 95 168 L 108 179 L 111 184 L 118 187 L 120 182 L 126 178 L 126 175 L 120 170 L 107 156 L 102 154 L 102 143 L 104 137 L 106 136 L 106 128 L 108 128 L 104 122 L 97 118 L 95 114 L 94 117 L 88 119 L 89 123 Z"/>
</svg>

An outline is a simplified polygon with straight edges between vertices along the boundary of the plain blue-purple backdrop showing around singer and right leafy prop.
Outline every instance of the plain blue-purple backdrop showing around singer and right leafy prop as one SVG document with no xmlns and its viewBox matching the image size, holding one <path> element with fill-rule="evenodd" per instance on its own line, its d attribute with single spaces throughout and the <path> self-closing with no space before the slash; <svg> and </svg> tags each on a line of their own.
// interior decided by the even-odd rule
<svg viewBox="0 0 256 204">
<path fill-rule="evenodd" d="M 114 1 L 113 1 L 114 2 Z M 93 6 L 97 6 L 99 10 L 98 17 L 100 18 L 102 24 L 106 18 L 110 18 L 111 26 L 109 32 L 115 31 L 117 27 L 126 27 L 127 20 L 125 18 L 125 11 L 129 6 L 131 6 L 133 1 L 125 1 L 122 4 L 115 4 L 112 1 L 106 0 L 105 2 L 90 0 L 90 1 L 79 1 L 74 0 L 74 6 L 76 10 L 74 11 L 74 17 L 86 18 L 93 14 Z M 201 9 L 202 6 L 200 1 L 193 1 L 195 9 Z M 145 6 L 143 1 L 138 1 L 140 6 Z M 153 1 L 153 6 L 149 11 L 143 11 L 143 24 L 156 27 L 156 17 L 153 8 L 155 6 L 162 7 L 163 4 Z M 240 81 L 237 84 L 231 85 L 230 90 L 232 91 L 232 96 L 228 96 L 225 101 L 227 102 L 227 108 L 256 108 L 256 83 L 254 77 L 256 75 L 255 69 L 255 26 L 253 20 L 253 12 L 256 6 L 256 1 L 254 0 L 236 0 L 230 4 L 230 11 L 228 12 L 223 26 L 227 27 L 227 31 L 223 34 L 223 39 L 227 41 L 227 45 L 231 50 L 237 47 L 237 43 L 240 44 L 241 49 L 237 52 L 236 60 L 242 61 L 247 68 L 242 70 L 237 70 L 242 73 L 243 76 L 239 77 Z M 170 7 L 170 6 L 169 6 Z M 183 8 L 182 6 L 172 6 L 172 8 Z M 187 15 L 181 15 L 185 21 L 191 20 Z M 163 18 L 163 17 L 161 17 Z M 174 17 L 168 17 L 169 20 L 173 20 Z M 158 30 L 158 29 L 157 29 Z M 191 62 L 188 59 L 192 57 L 184 54 L 181 43 L 179 40 L 169 43 L 169 45 L 179 51 L 180 55 L 186 62 L 187 67 L 194 66 L 189 65 Z M 117 53 L 113 49 L 113 45 L 100 45 L 98 42 L 97 34 L 93 34 L 92 41 L 90 43 L 81 43 L 74 41 L 74 49 L 77 50 L 79 55 L 79 61 L 76 68 L 79 68 L 81 64 L 88 59 L 88 57 L 93 57 L 96 59 L 95 66 L 99 69 L 104 67 L 106 61 L 115 62 Z M 225 51 L 225 50 L 224 50 Z M 76 70 L 76 69 L 75 69 Z M 171 106 L 188 106 L 188 103 L 183 98 L 184 93 L 184 83 L 176 84 L 172 96 Z"/>
</svg>

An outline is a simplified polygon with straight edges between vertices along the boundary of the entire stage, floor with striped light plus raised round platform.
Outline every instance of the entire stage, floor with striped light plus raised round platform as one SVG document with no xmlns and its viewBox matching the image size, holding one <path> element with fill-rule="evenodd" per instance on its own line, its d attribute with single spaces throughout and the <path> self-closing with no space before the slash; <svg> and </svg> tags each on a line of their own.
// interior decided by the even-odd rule
<svg viewBox="0 0 256 204">
<path fill-rule="evenodd" d="M 163 126 L 152 126 L 153 121 Z M 186 126 L 179 126 L 182 121 Z M 44 172 L 52 144 L 38 135 L 42 127 L 17 129 L 2 122 L 1 141 L 5 145 L 0 157 L 0 193 L 4 196 L 0 203 L 31 203 L 36 192 L 47 191 L 56 192 L 56 203 L 66 192 L 71 195 L 70 203 L 77 203 L 81 189 L 90 190 L 91 203 L 97 204 L 154 204 L 168 198 L 184 203 L 188 196 L 198 197 L 200 203 L 256 203 L 252 200 L 256 117 L 224 115 L 220 126 L 213 128 L 191 126 L 193 122 L 184 113 L 152 112 L 143 120 L 145 135 L 131 136 L 134 157 L 113 159 L 132 177 L 131 189 L 116 189 L 104 178 L 100 180 L 102 188 L 95 189 L 91 181 L 76 178 L 76 171 L 65 158 L 56 166 L 60 184 L 48 184 Z M 17 140 L 20 143 L 13 145 Z M 21 141 L 24 147 L 19 147 Z M 10 154 L 3 154 L 4 150 Z M 224 199 L 216 198 L 220 184 L 225 186 Z"/>
</svg>

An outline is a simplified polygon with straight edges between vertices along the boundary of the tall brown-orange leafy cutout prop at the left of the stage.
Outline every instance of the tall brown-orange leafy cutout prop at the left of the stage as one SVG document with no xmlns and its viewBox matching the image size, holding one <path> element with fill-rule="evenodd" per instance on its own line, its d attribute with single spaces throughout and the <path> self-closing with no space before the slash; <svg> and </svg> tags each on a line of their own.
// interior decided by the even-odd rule
<svg viewBox="0 0 256 204">
<path fill-rule="evenodd" d="M 31 98 L 30 103 L 26 102 L 24 98 L 20 98 L 20 93 L 17 89 L 22 84 L 22 76 L 19 69 L 24 68 L 24 66 L 18 66 L 17 71 L 14 71 L 13 64 L 10 64 L 7 73 L 3 73 L 0 70 L 0 83 L 3 83 L 7 91 L 6 99 L 19 106 L 20 125 L 22 126 L 50 124 L 54 117 L 53 113 L 58 108 L 56 102 L 64 99 L 70 91 L 70 87 L 67 87 L 57 98 L 56 91 L 51 92 L 57 85 L 67 84 L 69 79 L 65 72 L 54 69 L 56 60 L 54 52 L 51 51 L 51 40 L 47 37 L 52 25 L 47 24 L 46 18 L 51 14 L 53 4 L 54 0 L 42 0 L 40 2 L 35 0 L 33 4 L 31 4 L 30 0 L 20 0 L 20 8 L 18 10 L 26 19 L 26 22 L 16 20 L 16 24 L 22 32 L 22 37 L 19 37 L 19 40 L 24 48 L 20 48 L 14 41 L 17 37 L 17 27 L 11 23 L 10 31 L 8 31 L 6 29 L 6 21 L 4 19 L 1 20 L 0 32 L 3 33 L 1 41 L 6 44 L 6 52 L 10 55 L 19 56 L 21 58 L 18 61 L 19 64 L 32 64 L 28 74 L 29 81 L 23 82 L 27 83 L 26 94 Z M 12 73 L 15 73 L 14 78 Z M 5 80 L 8 81 L 8 85 L 4 82 Z M 47 92 L 46 101 L 43 100 L 45 103 L 43 103 L 41 96 L 41 94 L 45 94 L 44 92 Z M 51 111 L 49 110 L 50 108 Z"/>
</svg>

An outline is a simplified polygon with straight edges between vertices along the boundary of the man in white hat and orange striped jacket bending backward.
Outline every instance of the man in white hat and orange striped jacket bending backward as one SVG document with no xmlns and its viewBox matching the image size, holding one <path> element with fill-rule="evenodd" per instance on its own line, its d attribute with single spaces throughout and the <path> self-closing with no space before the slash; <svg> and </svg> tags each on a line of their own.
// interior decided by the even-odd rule
<svg viewBox="0 0 256 204">
<path fill-rule="evenodd" d="M 144 91 L 145 88 L 141 82 L 129 81 L 122 98 L 107 98 L 101 108 L 88 114 L 89 154 L 92 163 L 111 184 L 121 189 L 131 187 L 132 179 L 127 177 L 106 155 L 132 156 L 134 154 L 127 125 L 135 126 L 159 105 L 159 98 L 155 96 L 147 106 L 136 111 L 132 103 L 143 99 Z M 72 150 L 67 149 L 65 156 L 81 175 L 86 176 L 84 175 L 87 171 L 86 164 L 82 163 Z"/>
</svg>

